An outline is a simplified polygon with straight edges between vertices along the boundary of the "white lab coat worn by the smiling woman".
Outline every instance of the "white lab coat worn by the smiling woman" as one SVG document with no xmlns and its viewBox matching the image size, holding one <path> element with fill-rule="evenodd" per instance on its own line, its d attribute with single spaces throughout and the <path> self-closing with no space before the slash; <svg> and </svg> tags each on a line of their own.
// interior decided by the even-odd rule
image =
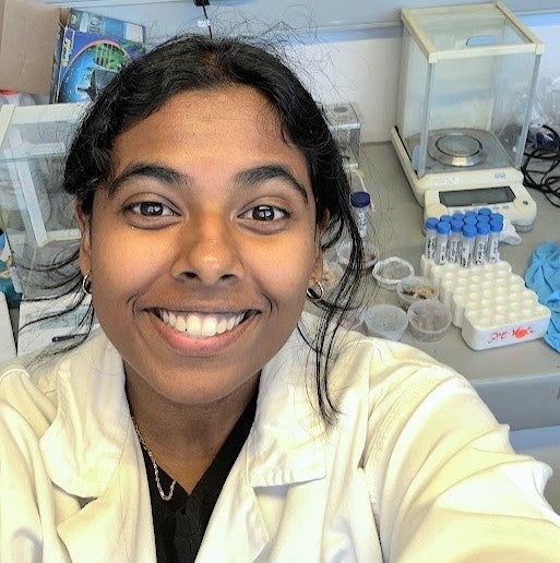
<svg viewBox="0 0 560 563">
<path fill-rule="evenodd" d="M 559 561 L 560 517 L 540 494 L 549 468 L 512 452 L 464 379 L 350 333 L 331 364 L 338 422 L 325 428 L 307 360 L 295 333 L 263 369 L 198 561 Z M 105 335 L 0 378 L 0 561 L 155 561 L 144 462 Z"/>
</svg>

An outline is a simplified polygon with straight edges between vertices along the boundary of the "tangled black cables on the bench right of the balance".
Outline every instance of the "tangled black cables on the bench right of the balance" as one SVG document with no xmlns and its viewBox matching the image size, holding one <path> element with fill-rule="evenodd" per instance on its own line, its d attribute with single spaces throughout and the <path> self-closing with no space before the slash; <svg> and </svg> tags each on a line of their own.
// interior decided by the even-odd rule
<svg viewBox="0 0 560 563">
<path fill-rule="evenodd" d="M 541 127 L 550 137 L 546 146 L 525 149 L 521 166 L 523 183 L 541 192 L 555 207 L 560 207 L 560 134 L 551 127 Z"/>
</svg>

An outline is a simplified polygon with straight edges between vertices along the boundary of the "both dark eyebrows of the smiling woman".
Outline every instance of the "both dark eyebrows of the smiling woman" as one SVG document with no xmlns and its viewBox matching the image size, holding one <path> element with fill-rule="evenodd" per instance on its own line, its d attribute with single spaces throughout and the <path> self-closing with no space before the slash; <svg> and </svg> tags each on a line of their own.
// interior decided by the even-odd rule
<svg viewBox="0 0 560 563">
<path fill-rule="evenodd" d="M 117 176 L 108 185 L 109 197 L 115 195 L 119 188 L 135 177 L 153 178 L 169 185 L 188 185 L 190 184 L 189 176 L 182 175 L 164 165 L 155 165 L 150 163 L 136 163 L 128 166 L 119 176 Z M 238 172 L 234 181 L 237 185 L 251 187 L 267 180 L 282 180 L 294 188 L 305 203 L 308 203 L 308 194 L 306 188 L 295 178 L 289 169 L 283 165 L 271 164 L 261 165 L 248 170 Z"/>
</svg>

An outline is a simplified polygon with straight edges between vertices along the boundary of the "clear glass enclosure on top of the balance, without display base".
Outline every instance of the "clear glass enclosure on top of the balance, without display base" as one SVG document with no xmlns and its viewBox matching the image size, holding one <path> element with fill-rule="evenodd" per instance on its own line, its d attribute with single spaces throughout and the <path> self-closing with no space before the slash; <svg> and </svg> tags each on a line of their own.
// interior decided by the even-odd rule
<svg viewBox="0 0 560 563">
<path fill-rule="evenodd" d="M 402 20 L 395 129 L 417 178 L 519 169 L 543 43 L 500 2 Z"/>
</svg>

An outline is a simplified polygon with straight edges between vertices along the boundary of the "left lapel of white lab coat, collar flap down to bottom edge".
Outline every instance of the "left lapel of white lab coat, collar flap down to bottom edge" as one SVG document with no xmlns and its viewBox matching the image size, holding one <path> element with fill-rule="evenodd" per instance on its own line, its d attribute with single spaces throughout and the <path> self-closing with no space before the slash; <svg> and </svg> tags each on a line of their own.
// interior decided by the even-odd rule
<svg viewBox="0 0 560 563">
<path fill-rule="evenodd" d="M 59 364 L 58 382 L 58 412 L 40 447 L 60 489 L 55 494 L 81 505 L 60 515 L 57 527 L 70 560 L 155 562 L 150 492 L 120 356 L 97 333 Z"/>
</svg>

